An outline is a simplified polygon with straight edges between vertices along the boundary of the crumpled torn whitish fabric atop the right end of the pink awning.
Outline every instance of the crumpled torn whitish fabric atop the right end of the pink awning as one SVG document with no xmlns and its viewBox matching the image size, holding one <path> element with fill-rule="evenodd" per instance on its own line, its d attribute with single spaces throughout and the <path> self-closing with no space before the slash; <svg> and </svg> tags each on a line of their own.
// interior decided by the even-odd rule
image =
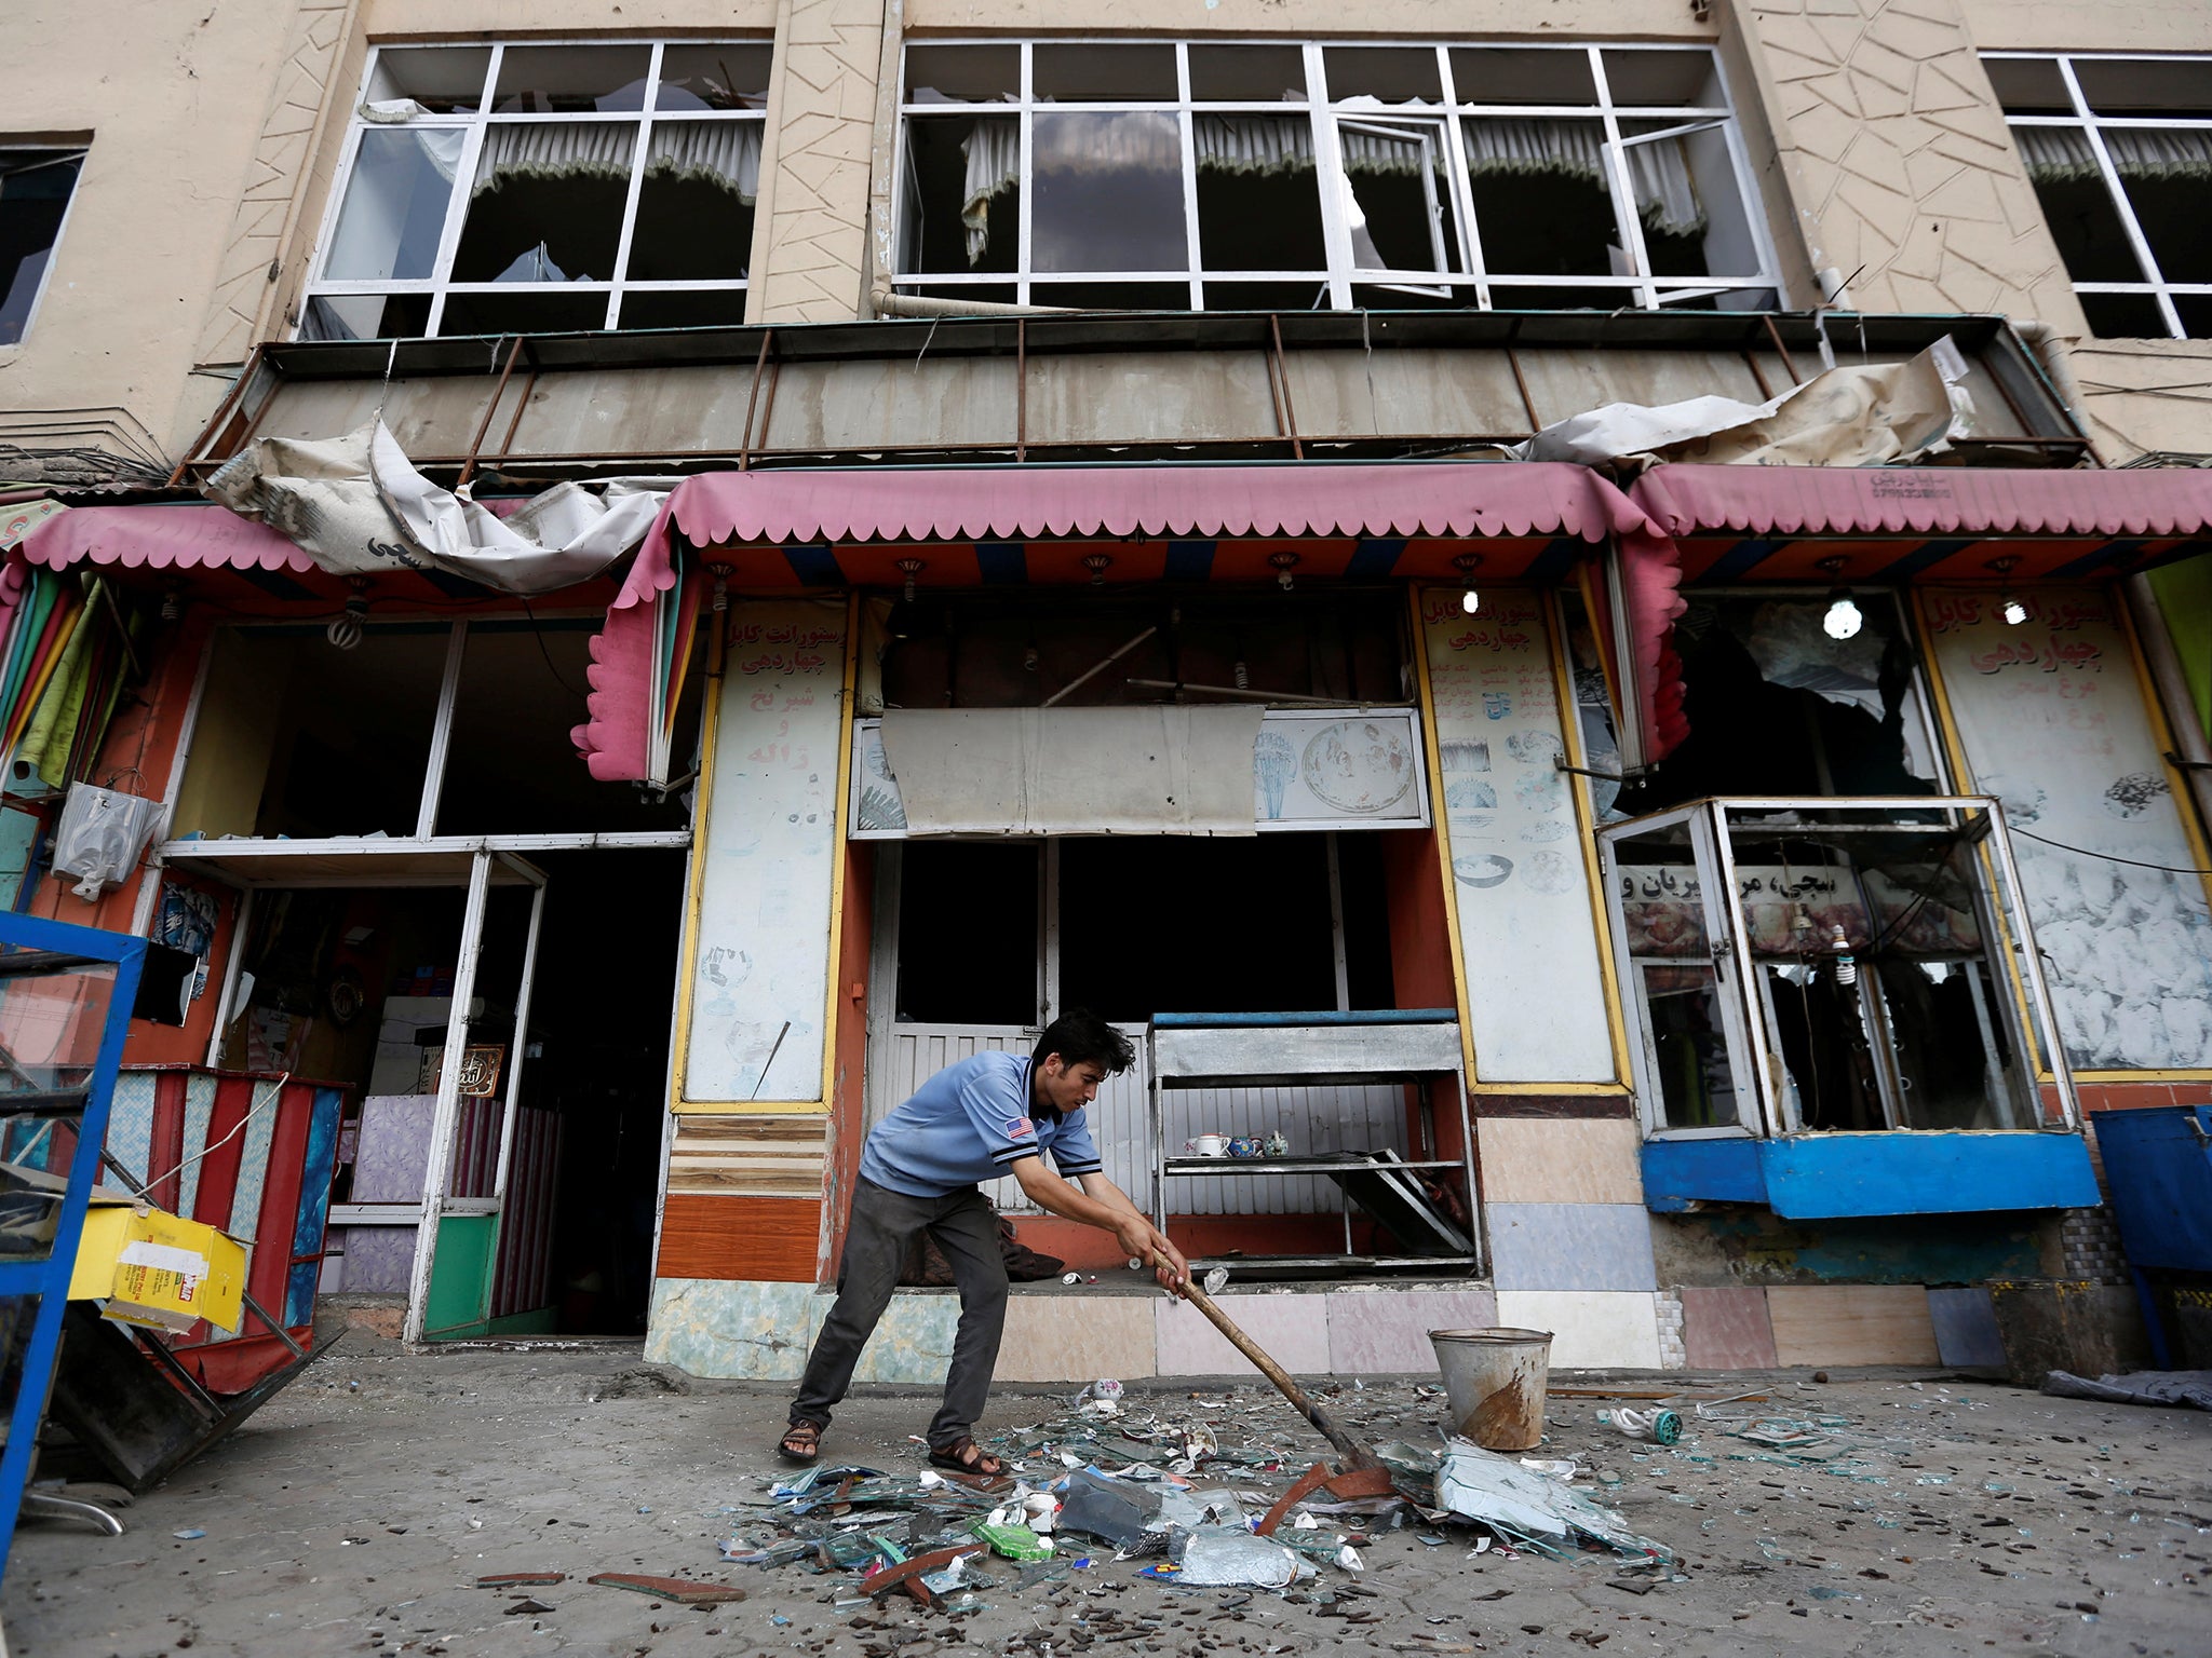
<svg viewBox="0 0 2212 1658">
<path fill-rule="evenodd" d="M 1938 455 L 1973 431 L 1966 358 L 1944 334 L 1907 363 L 1827 369 L 1767 402 L 1608 402 L 1568 416 L 1513 460 L 1694 460 L 1728 466 L 1882 466 Z"/>
</svg>

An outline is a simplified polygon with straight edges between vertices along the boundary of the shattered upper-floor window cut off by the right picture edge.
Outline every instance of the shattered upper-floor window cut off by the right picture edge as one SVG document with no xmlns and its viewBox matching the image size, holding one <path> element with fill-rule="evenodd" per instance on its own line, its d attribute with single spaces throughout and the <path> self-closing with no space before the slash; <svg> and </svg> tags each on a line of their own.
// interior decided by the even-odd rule
<svg viewBox="0 0 2212 1658">
<path fill-rule="evenodd" d="M 1984 66 L 2090 334 L 2212 338 L 2212 57 Z"/>
</svg>

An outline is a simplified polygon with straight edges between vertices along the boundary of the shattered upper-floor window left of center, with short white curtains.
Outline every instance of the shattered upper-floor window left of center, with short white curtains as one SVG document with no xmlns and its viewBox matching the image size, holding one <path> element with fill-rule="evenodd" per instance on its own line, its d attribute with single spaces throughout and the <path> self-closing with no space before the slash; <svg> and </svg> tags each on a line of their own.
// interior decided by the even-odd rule
<svg viewBox="0 0 2212 1658">
<path fill-rule="evenodd" d="M 745 321 L 770 46 L 378 46 L 316 340 Z"/>
</svg>

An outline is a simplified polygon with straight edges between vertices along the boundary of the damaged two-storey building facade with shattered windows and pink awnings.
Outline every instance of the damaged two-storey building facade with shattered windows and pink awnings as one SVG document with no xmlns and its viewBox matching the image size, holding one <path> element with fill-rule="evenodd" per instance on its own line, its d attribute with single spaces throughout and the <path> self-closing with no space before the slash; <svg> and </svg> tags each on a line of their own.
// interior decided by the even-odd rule
<svg viewBox="0 0 2212 1658">
<path fill-rule="evenodd" d="M 867 1125 L 1082 1006 L 1292 1371 L 2132 1318 L 2095 1121 L 2212 1101 L 2199 7 L 42 29 L 0 849 L 190 957 L 111 1147 L 239 1130 L 157 1192 L 263 1302 L 792 1377 Z M 71 785 L 142 860 L 53 873 Z M 998 1198 L 1095 1280 L 1002 1377 L 1234 1368 Z"/>
</svg>

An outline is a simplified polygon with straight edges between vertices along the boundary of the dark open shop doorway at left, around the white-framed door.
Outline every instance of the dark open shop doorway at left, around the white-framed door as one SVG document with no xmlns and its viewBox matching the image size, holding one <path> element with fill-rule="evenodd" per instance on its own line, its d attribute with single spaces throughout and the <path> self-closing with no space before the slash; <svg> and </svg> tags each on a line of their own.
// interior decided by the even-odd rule
<svg viewBox="0 0 2212 1658">
<path fill-rule="evenodd" d="M 518 1161 L 509 1214 L 531 1187 L 542 1236 L 518 1298 L 518 1329 L 635 1335 L 653 1289 L 653 1216 L 675 962 L 684 920 L 681 849 L 533 851 L 546 875 L 529 1028 L 515 1028 L 526 884 L 487 895 L 478 1017 L 469 1046 L 522 1061 L 518 1110 L 557 1119 L 542 1163 Z M 434 1048 L 442 1043 L 460 953 L 465 889 L 327 886 L 257 893 L 241 1008 L 221 1063 L 292 1072 L 347 1090 L 332 1185 L 325 1293 L 405 1302 L 411 1205 L 427 1167 Z M 489 1196 L 498 1096 L 487 1130 L 462 1132 L 458 1189 Z M 467 1103 L 465 1103 L 467 1110 Z M 544 1119 L 540 1119 L 544 1121 Z M 462 1165 L 476 1147 L 476 1185 Z M 557 1147 L 557 1150 L 555 1150 Z M 456 1192 L 456 1185 L 447 1187 Z"/>
</svg>

